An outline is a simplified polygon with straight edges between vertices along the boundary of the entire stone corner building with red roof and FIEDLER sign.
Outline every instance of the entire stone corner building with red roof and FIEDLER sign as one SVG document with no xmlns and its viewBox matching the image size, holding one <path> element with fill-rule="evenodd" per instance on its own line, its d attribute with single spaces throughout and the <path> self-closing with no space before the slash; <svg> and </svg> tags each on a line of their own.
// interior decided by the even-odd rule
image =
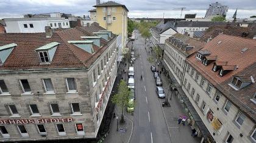
<svg viewBox="0 0 256 143">
<path fill-rule="evenodd" d="M 118 53 L 100 30 L 1 34 L 0 141 L 96 138 Z"/>
</svg>

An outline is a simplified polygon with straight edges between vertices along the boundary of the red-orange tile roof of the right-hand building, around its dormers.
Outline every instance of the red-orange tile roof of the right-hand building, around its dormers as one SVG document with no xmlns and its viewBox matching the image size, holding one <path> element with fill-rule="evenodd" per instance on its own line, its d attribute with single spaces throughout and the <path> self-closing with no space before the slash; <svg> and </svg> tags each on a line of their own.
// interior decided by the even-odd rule
<svg viewBox="0 0 256 143">
<path fill-rule="evenodd" d="M 222 42 L 218 44 L 219 41 Z M 248 49 L 241 52 L 245 47 Z M 221 34 L 208 42 L 202 50 L 208 50 L 211 53 L 210 56 L 218 56 L 217 65 L 225 65 L 224 68 L 233 70 L 221 77 L 218 72 L 212 70 L 214 62 L 205 66 L 195 57 L 195 54 L 188 58 L 190 65 L 256 122 L 256 105 L 250 101 L 255 93 L 255 83 L 239 91 L 228 85 L 234 75 L 256 78 L 256 40 Z"/>
</svg>

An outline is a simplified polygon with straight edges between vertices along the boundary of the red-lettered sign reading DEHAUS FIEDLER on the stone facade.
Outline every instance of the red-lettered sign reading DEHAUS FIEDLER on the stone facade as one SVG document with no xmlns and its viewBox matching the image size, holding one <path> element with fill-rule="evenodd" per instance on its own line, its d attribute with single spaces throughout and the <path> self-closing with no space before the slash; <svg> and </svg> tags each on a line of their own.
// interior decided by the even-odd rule
<svg viewBox="0 0 256 143">
<path fill-rule="evenodd" d="M 73 122 L 73 118 L 40 118 L 40 119 L 0 119 L 0 125 L 4 124 L 47 124 L 59 122 Z"/>
</svg>

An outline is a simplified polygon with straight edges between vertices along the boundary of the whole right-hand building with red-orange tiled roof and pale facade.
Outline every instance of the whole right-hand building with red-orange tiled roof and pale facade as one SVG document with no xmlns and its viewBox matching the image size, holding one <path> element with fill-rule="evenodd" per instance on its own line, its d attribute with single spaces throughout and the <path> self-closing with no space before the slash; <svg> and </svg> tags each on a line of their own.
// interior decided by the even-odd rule
<svg viewBox="0 0 256 143">
<path fill-rule="evenodd" d="M 256 41 L 218 35 L 187 59 L 182 88 L 216 142 L 255 142 Z"/>
</svg>

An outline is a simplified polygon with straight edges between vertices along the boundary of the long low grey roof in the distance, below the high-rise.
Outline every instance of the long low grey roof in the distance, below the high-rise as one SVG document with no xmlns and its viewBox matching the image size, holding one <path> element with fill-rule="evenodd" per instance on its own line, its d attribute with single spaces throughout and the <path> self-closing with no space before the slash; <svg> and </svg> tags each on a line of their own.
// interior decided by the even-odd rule
<svg viewBox="0 0 256 143">
<path fill-rule="evenodd" d="M 212 21 L 177 21 L 176 27 L 210 27 L 212 25 L 235 25 L 231 22 L 212 22 Z"/>
</svg>

